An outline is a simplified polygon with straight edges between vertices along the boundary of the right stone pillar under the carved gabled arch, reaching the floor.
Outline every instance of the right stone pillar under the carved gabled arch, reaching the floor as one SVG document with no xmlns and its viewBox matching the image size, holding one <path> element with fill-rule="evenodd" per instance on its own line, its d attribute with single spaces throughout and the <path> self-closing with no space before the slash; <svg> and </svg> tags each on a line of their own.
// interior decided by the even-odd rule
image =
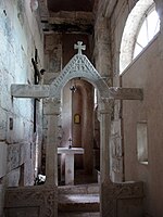
<svg viewBox="0 0 163 217">
<path fill-rule="evenodd" d="M 106 217 L 110 179 L 110 137 L 113 100 L 100 102 L 100 214 Z"/>
</svg>

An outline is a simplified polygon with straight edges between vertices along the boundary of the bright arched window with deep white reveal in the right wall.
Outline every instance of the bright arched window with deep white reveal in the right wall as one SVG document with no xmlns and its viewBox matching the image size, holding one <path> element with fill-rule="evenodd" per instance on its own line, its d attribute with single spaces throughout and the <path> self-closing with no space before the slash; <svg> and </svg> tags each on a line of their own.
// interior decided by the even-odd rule
<svg viewBox="0 0 163 217">
<path fill-rule="evenodd" d="M 121 52 L 120 73 L 143 50 L 160 30 L 160 20 L 153 0 L 139 0 L 131 10 L 124 28 Z"/>
</svg>

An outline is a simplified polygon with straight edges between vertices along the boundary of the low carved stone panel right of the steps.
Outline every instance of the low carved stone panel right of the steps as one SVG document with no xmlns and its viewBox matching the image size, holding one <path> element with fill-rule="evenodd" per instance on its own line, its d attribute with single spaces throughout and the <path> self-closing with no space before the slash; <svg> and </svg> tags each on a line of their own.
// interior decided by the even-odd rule
<svg viewBox="0 0 163 217">
<path fill-rule="evenodd" d="M 142 182 L 103 182 L 101 186 L 102 217 L 140 217 L 143 204 Z"/>
</svg>

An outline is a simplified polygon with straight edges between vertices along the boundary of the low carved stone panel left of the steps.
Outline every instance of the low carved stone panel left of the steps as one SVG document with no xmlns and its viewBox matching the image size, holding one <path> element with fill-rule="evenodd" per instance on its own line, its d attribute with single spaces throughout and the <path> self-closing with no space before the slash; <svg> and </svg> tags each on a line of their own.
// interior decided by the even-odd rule
<svg viewBox="0 0 163 217">
<path fill-rule="evenodd" d="M 57 217 L 58 189 L 54 186 L 9 188 L 4 214 L 5 217 Z"/>
</svg>

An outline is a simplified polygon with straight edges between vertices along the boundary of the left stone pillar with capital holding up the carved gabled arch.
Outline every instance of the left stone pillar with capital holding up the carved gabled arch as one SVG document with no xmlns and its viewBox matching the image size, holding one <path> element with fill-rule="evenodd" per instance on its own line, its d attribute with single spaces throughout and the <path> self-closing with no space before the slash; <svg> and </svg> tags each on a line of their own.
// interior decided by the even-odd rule
<svg viewBox="0 0 163 217">
<path fill-rule="evenodd" d="M 60 102 L 48 101 L 45 112 L 47 115 L 47 145 L 46 145 L 46 184 L 58 186 L 58 129 Z"/>
</svg>

